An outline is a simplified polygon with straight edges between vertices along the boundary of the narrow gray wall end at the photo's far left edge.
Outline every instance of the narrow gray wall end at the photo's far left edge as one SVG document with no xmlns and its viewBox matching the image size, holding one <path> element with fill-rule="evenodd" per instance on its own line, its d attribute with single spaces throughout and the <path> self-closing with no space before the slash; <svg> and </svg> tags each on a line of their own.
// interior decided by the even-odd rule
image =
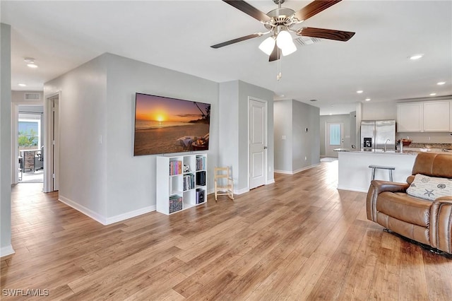
<svg viewBox="0 0 452 301">
<path fill-rule="evenodd" d="M 11 246 L 11 26 L 0 23 L 0 256 Z"/>
</svg>

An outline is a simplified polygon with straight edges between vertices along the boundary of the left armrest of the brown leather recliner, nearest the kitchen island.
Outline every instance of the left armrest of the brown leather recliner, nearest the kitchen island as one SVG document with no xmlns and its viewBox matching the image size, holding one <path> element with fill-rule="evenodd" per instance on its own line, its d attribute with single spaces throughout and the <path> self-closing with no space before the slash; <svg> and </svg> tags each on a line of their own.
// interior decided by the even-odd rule
<svg viewBox="0 0 452 301">
<path fill-rule="evenodd" d="M 384 191 L 405 192 L 410 184 L 388 182 L 374 179 L 370 183 L 369 191 L 367 191 L 366 213 L 367 219 L 376 222 L 376 199 L 379 194 Z"/>
</svg>

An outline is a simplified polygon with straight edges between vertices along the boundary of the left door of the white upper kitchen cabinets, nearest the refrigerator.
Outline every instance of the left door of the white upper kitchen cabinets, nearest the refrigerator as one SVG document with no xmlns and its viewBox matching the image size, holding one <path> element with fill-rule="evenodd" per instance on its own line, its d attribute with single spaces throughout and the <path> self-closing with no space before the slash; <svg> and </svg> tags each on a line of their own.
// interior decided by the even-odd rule
<svg viewBox="0 0 452 301">
<path fill-rule="evenodd" d="M 422 102 L 399 103 L 397 105 L 397 131 L 423 130 Z"/>
</svg>

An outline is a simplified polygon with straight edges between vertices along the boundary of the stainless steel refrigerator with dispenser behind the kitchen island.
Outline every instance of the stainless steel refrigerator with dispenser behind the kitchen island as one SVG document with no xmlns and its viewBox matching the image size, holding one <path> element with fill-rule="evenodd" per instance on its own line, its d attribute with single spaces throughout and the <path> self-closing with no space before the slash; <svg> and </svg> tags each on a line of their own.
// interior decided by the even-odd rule
<svg viewBox="0 0 452 301">
<path fill-rule="evenodd" d="M 361 150 L 396 151 L 396 120 L 362 120 Z"/>
</svg>

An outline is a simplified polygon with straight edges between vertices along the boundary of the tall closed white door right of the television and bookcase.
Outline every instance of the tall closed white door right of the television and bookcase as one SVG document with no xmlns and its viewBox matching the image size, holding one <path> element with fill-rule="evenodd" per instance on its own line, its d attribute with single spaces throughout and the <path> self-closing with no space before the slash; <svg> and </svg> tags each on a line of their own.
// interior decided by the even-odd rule
<svg viewBox="0 0 452 301">
<path fill-rule="evenodd" d="M 267 105 L 249 100 L 249 189 L 266 184 Z"/>
</svg>

